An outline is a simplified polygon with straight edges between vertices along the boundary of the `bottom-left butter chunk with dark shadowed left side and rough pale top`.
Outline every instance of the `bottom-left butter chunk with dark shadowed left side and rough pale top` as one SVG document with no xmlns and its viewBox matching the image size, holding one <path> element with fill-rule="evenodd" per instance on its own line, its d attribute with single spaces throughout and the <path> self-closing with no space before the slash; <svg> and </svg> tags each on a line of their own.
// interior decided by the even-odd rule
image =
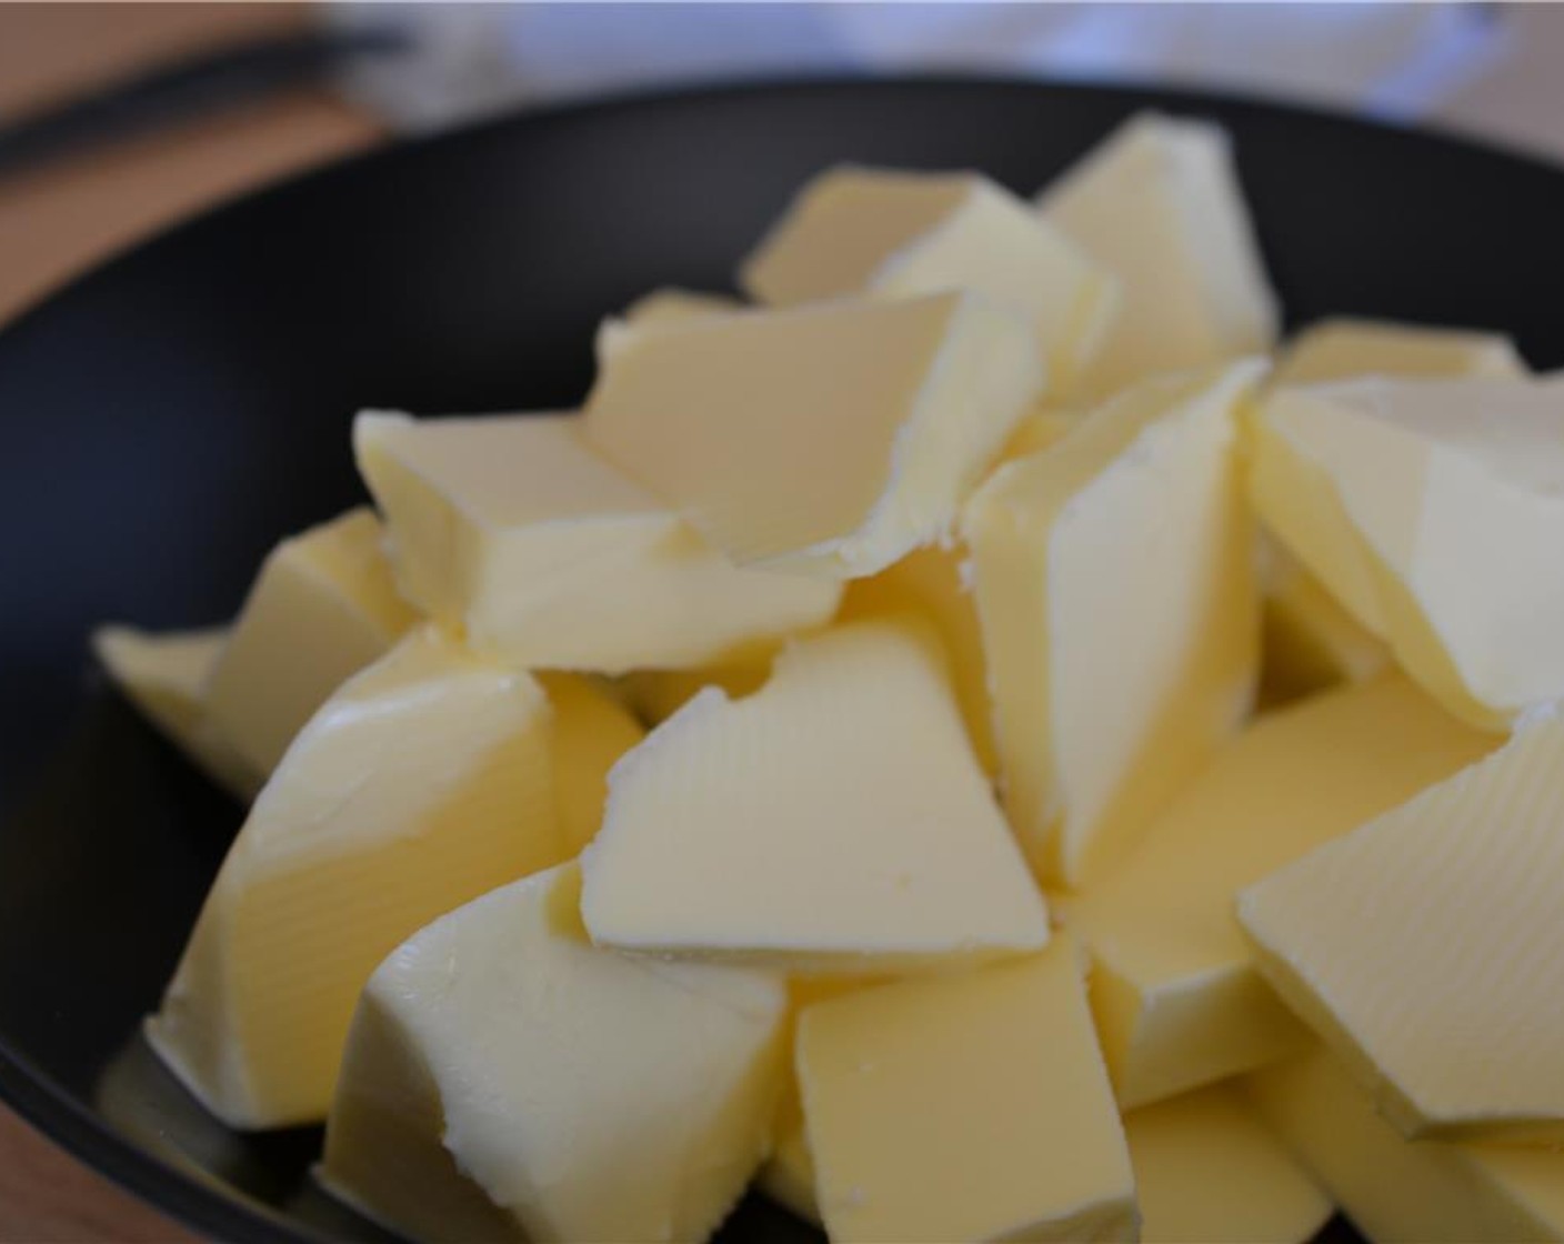
<svg viewBox="0 0 1564 1244">
<path fill-rule="evenodd" d="M 594 950 L 574 865 L 444 915 L 369 978 L 321 1181 L 414 1241 L 704 1241 L 759 1164 L 787 994 Z"/>
</svg>

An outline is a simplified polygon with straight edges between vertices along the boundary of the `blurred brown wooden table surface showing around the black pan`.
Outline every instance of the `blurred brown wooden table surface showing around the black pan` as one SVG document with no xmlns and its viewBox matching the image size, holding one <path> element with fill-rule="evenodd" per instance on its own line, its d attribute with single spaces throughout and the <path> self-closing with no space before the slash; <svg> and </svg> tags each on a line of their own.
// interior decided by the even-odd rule
<svg viewBox="0 0 1564 1244">
<path fill-rule="evenodd" d="M 277 5 L 0 5 L 0 117 L 166 56 L 308 20 Z M 296 91 L 0 182 L 0 321 L 211 202 L 383 138 L 325 91 Z M 0 1106 L 0 1244 L 192 1236 Z"/>
</svg>

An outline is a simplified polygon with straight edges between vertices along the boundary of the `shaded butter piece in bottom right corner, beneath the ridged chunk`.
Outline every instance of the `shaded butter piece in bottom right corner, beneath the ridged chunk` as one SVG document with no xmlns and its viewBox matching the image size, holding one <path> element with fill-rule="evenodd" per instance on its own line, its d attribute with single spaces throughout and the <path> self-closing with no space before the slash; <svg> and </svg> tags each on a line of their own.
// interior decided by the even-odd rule
<svg viewBox="0 0 1564 1244">
<path fill-rule="evenodd" d="M 1408 1141 L 1323 1048 L 1250 1077 L 1265 1120 L 1379 1244 L 1564 1239 L 1564 1153 Z"/>
</svg>

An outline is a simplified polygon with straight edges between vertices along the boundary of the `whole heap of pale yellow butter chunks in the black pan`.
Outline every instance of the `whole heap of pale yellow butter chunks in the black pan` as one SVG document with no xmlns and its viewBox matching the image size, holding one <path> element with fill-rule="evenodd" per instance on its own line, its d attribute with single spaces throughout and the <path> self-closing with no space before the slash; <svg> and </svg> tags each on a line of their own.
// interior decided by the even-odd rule
<svg viewBox="0 0 1564 1244">
<path fill-rule="evenodd" d="M 738 285 L 99 634 L 253 798 L 174 1073 L 414 1241 L 1564 1238 L 1564 380 L 1278 352 L 1151 114 L 824 171 Z"/>
</svg>

